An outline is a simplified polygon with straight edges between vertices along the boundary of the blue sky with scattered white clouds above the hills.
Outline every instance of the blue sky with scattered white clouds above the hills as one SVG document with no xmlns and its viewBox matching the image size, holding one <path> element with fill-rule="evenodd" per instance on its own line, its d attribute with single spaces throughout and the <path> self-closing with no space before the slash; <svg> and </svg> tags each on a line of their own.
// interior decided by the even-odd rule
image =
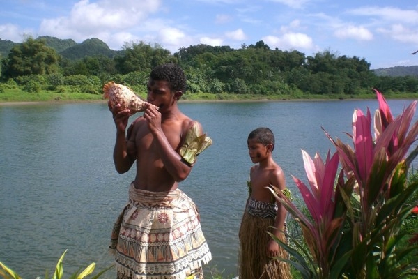
<svg viewBox="0 0 418 279">
<path fill-rule="evenodd" d="M 112 50 L 263 42 L 305 56 L 329 51 L 371 69 L 418 65 L 416 0 L 0 0 L 0 39 L 99 38 Z"/>
</svg>

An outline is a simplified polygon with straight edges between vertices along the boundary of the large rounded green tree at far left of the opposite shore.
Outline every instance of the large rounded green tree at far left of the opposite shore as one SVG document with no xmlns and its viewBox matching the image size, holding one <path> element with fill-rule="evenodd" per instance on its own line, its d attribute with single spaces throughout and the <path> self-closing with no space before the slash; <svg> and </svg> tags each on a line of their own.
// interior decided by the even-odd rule
<svg viewBox="0 0 418 279">
<path fill-rule="evenodd" d="M 3 77 L 13 78 L 22 75 L 45 75 L 59 70 L 59 54 L 45 45 L 45 40 L 27 38 L 24 43 L 15 45 L 4 60 L 1 68 Z"/>
</svg>

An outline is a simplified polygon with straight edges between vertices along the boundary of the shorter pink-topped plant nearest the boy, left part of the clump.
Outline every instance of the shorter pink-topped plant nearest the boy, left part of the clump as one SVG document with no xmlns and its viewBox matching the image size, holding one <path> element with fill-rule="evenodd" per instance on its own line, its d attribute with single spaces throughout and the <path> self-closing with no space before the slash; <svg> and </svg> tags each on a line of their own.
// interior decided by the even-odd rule
<svg viewBox="0 0 418 279">
<path fill-rule="evenodd" d="M 346 204 L 342 202 L 341 190 L 345 190 L 346 195 L 349 195 L 350 190 L 353 190 L 353 179 L 343 183 L 342 171 L 336 176 L 339 166 L 337 153 L 330 156 L 328 151 L 325 162 L 318 153 L 314 159 L 305 151 L 302 151 L 302 154 L 311 190 L 300 179 L 293 177 L 293 180 L 302 194 L 310 215 L 298 209 L 291 199 L 274 186 L 270 190 L 291 216 L 300 223 L 308 249 L 287 233 L 286 236 L 295 243 L 296 248 L 280 242 L 279 239 L 276 241 L 279 241 L 279 244 L 292 256 L 291 259 L 283 260 L 293 264 L 302 278 L 339 278 L 350 256 L 349 252 L 344 253 L 344 246 L 340 245 L 344 236 L 341 231 L 347 210 Z M 334 187 L 335 182 L 337 187 Z"/>
</svg>

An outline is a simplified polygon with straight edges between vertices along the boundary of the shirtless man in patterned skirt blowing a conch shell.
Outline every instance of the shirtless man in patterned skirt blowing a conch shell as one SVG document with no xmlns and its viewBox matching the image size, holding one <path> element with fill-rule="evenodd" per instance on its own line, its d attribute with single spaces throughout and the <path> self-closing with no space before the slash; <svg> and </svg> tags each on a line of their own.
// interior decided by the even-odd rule
<svg viewBox="0 0 418 279">
<path fill-rule="evenodd" d="M 104 94 L 112 86 L 109 84 Z M 137 167 L 129 202 L 111 234 L 117 277 L 203 278 L 202 266 L 212 256 L 199 211 L 178 183 L 187 178 L 197 156 L 212 140 L 203 134 L 199 122 L 178 107 L 186 89 L 181 68 L 175 64 L 157 66 L 150 73 L 147 87 L 146 102 L 132 110 L 130 105 L 122 106 L 121 100 L 114 102 L 108 96 L 116 125 L 116 170 L 123 174 L 134 162 Z M 144 115 L 127 128 L 129 117 L 137 109 Z"/>
</svg>

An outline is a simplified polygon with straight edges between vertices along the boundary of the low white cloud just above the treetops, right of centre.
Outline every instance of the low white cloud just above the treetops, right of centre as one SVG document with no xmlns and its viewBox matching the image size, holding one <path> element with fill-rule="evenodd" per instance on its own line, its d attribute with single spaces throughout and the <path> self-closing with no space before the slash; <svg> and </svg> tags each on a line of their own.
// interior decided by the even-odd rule
<svg viewBox="0 0 418 279">
<path fill-rule="evenodd" d="M 314 49 L 312 38 L 304 33 L 286 33 L 281 37 L 265 36 L 262 40 L 266 45 L 269 45 L 272 48 L 277 47 L 281 50 Z"/>
</svg>

